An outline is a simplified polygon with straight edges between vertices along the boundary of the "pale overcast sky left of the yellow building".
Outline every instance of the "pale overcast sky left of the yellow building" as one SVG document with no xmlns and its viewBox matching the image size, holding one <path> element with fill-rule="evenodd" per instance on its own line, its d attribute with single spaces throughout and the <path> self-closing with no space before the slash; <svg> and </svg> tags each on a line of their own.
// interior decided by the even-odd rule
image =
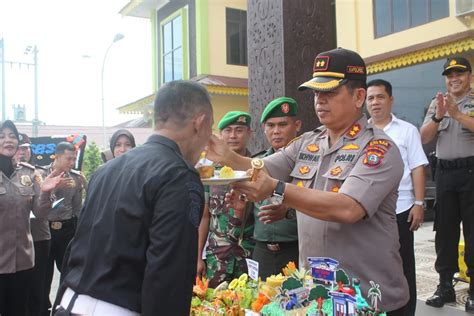
<svg viewBox="0 0 474 316">
<path fill-rule="evenodd" d="M 115 125 L 137 116 L 117 107 L 152 93 L 150 21 L 122 17 L 127 0 L 1 0 L 0 39 L 5 59 L 32 63 L 28 45 L 38 47 L 39 119 L 49 125 L 101 126 L 101 71 L 105 51 L 117 33 L 125 37 L 110 49 L 104 74 L 105 121 Z M 34 117 L 33 67 L 5 65 L 7 116 L 25 104 Z M 1 103 L 1 99 L 0 99 Z M 1 113 L 0 113 L 1 115 Z"/>
</svg>

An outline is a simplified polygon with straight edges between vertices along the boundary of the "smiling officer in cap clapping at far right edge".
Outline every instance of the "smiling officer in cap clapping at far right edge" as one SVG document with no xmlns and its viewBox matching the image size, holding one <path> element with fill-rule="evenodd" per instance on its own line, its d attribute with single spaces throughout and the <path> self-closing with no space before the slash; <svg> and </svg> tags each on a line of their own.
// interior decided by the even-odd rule
<svg viewBox="0 0 474 316">
<path fill-rule="evenodd" d="M 466 311 L 474 313 L 474 93 L 472 68 L 462 57 L 444 64 L 447 94 L 438 93 L 421 127 L 423 143 L 437 135 L 436 156 L 436 262 L 438 289 L 426 304 L 441 307 L 455 302 L 453 275 L 459 271 L 458 243 L 463 225 L 470 294 Z"/>
</svg>

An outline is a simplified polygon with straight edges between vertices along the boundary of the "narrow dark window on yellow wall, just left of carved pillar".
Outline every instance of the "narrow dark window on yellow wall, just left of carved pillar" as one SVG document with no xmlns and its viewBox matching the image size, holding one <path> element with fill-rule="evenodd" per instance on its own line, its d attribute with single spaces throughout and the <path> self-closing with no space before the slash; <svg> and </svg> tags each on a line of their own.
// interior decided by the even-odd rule
<svg viewBox="0 0 474 316">
<path fill-rule="evenodd" d="M 247 12 L 226 8 L 227 63 L 247 66 Z"/>
</svg>

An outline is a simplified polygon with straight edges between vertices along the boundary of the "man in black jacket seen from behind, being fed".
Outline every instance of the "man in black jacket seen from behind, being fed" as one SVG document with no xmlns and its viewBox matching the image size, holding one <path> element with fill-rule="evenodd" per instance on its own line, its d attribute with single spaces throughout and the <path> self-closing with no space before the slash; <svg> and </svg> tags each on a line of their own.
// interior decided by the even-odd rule
<svg viewBox="0 0 474 316">
<path fill-rule="evenodd" d="M 212 133 L 212 106 L 201 85 L 174 81 L 154 108 L 148 141 L 90 181 L 61 299 L 73 314 L 189 315 L 204 205 L 193 166 Z"/>
</svg>

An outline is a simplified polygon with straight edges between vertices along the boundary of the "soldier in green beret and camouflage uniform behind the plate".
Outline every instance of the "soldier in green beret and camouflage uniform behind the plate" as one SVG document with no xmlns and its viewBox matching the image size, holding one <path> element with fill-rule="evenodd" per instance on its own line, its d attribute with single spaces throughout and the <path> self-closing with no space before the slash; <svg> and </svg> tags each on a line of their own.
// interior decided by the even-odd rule
<svg viewBox="0 0 474 316">
<path fill-rule="evenodd" d="M 235 152 L 250 157 L 247 142 L 251 136 L 251 117 L 246 112 L 228 112 L 218 124 L 220 135 Z M 251 211 L 234 212 L 225 206 L 228 186 L 210 186 L 209 203 L 204 208 L 199 227 L 199 258 L 208 236 L 206 274 L 209 286 L 216 287 L 247 272 L 246 258 L 252 256 L 254 219 Z M 202 267 L 201 261 L 201 267 Z M 200 264 L 198 263 L 198 274 Z M 201 268 L 202 270 L 202 268 Z"/>
</svg>

